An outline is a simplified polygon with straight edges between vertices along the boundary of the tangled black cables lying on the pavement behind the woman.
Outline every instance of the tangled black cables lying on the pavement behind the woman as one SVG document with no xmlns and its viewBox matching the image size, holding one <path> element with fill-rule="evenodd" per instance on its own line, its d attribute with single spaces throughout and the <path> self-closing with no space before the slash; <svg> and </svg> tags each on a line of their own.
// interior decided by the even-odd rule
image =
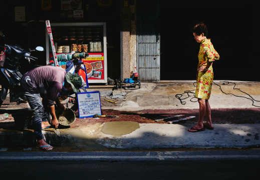
<svg viewBox="0 0 260 180">
<path fill-rule="evenodd" d="M 234 84 L 234 86 L 233 86 L 233 89 L 234 89 L 234 90 L 238 90 L 238 91 L 240 91 L 240 92 L 243 92 L 243 93 L 245 93 L 246 95 L 248 95 L 250 98 L 249 98 L 249 97 L 245 97 L 245 96 L 235 95 L 235 94 L 233 94 L 233 93 L 225 93 L 225 92 L 222 90 L 221 86 L 213 81 L 213 83 L 214 83 L 215 85 L 219 86 L 219 89 L 220 89 L 221 92 L 223 92 L 224 94 L 226 94 L 226 95 L 234 95 L 234 96 L 236 96 L 236 97 L 247 98 L 248 100 L 251 100 L 251 101 L 252 101 L 252 105 L 253 105 L 253 106 L 255 106 L 255 107 L 260 107 L 260 106 L 254 105 L 254 101 L 260 102 L 260 100 L 255 100 L 255 99 L 254 99 L 251 95 L 249 95 L 248 93 L 246 93 L 246 92 L 240 90 L 239 88 L 235 88 L 235 85 L 236 85 L 236 84 L 235 84 L 234 82 L 229 82 L 229 81 L 226 81 L 226 80 L 225 80 L 225 81 L 220 81 L 220 82 L 223 82 L 223 84 L 233 83 L 233 84 Z M 196 83 L 196 82 L 193 82 L 193 85 L 194 85 L 194 83 Z M 194 86 L 195 86 L 195 85 L 194 85 Z M 195 89 L 194 89 L 194 90 L 195 90 Z M 190 97 L 189 93 L 195 94 L 195 92 L 192 92 L 192 91 L 194 91 L 194 90 L 185 90 L 185 91 L 184 91 L 183 93 L 181 93 L 181 94 L 176 94 L 175 97 L 180 100 L 180 103 L 181 103 L 182 105 L 185 105 L 186 102 L 185 102 L 185 101 L 182 101 L 182 100 L 183 100 L 183 99 L 186 99 L 186 98 L 188 98 L 188 97 Z M 183 96 L 183 94 L 186 94 L 186 93 L 187 93 L 188 96 L 185 97 L 185 98 L 181 98 L 181 97 Z M 192 97 L 192 98 L 196 98 L 196 97 Z M 192 99 L 192 98 L 191 98 L 191 99 Z M 198 101 L 198 100 L 192 101 L 191 99 L 190 99 L 191 102 L 197 102 L 197 101 Z"/>
</svg>

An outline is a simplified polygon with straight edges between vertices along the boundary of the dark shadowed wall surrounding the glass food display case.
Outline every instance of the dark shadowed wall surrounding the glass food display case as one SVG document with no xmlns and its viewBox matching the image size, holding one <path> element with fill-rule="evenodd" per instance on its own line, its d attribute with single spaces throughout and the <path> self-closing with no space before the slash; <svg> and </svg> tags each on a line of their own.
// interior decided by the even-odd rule
<svg viewBox="0 0 260 180">
<path fill-rule="evenodd" d="M 120 68 L 113 68 L 113 64 L 119 64 L 120 67 L 120 3 L 118 0 L 112 0 L 109 6 L 99 6 L 97 0 L 82 0 L 83 19 L 68 18 L 67 11 L 61 10 L 61 0 L 52 0 L 52 8 L 50 10 L 43 10 L 41 2 L 42 0 L 1 1 L 0 15 L 2 19 L 0 31 L 5 33 L 7 43 L 19 44 L 24 48 L 29 48 L 31 46 L 30 39 L 41 38 L 39 36 L 32 37 L 32 34 L 31 36 L 29 35 L 29 32 L 32 30 L 28 28 L 30 26 L 28 26 L 28 22 L 31 20 L 50 20 L 51 23 L 106 22 L 107 43 L 110 47 L 107 49 L 108 76 L 120 77 Z M 89 5 L 89 10 L 86 9 L 86 4 Z M 26 21 L 15 21 L 15 6 L 26 7 Z M 35 32 L 35 30 L 33 31 Z M 43 33 L 45 37 L 45 32 Z M 40 54 L 43 62 L 46 61 L 45 53 L 42 52 Z"/>
</svg>

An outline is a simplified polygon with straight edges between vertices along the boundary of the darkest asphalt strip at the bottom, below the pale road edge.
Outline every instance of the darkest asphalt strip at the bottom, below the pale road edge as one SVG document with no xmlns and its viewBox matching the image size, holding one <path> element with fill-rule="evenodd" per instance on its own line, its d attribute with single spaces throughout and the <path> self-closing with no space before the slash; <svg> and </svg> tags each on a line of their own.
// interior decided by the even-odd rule
<svg viewBox="0 0 260 180">
<path fill-rule="evenodd" d="M 253 179 L 260 160 L 2 161 L 1 179 Z"/>
</svg>

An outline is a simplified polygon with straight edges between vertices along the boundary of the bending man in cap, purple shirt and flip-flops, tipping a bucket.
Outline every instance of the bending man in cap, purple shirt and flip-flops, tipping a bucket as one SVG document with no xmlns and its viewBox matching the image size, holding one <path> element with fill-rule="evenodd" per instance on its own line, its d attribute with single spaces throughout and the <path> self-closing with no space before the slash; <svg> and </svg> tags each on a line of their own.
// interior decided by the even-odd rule
<svg viewBox="0 0 260 180">
<path fill-rule="evenodd" d="M 66 89 L 73 89 L 75 93 L 79 93 L 82 86 L 81 77 L 78 74 L 72 74 L 61 67 L 40 66 L 25 73 L 21 79 L 21 85 L 25 91 L 25 95 L 33 110 L 34 133 L 37 139 L 37 147 L 43 150 L 51 150 L 53 147 L 46 143 L 43 139 L 42 128 L 54 125 L 58 127 L 59 121 L 55 114 L 55 106 L 65 108 L 60 103 L 58 92 L 61 91 L 63 85 Z M 43 102 L 47 103 L 44 108 Z M 51 124 L 48 122 L 48 113 L 52 116 Z"/>
</svg>

